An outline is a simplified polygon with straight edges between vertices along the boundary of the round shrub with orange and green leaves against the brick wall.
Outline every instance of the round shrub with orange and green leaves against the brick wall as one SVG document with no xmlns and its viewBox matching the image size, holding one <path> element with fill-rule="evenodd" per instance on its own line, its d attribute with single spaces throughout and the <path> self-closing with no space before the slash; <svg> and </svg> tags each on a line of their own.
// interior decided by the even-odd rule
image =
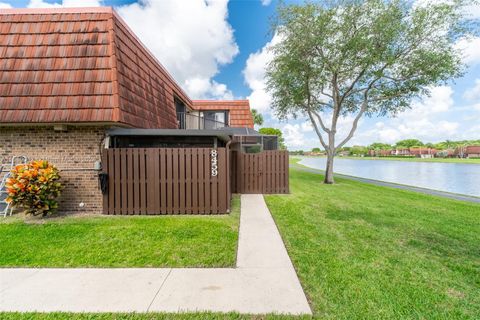
<svg viewBox="0 0 480 320">
<path fill-rule="evenodd" d="M 19 164 L 6 181 L 7 201 L 14 208 L 24 208 L 26 214 L 46 216 L 58 207 L 56 198 L 62 189 L 58 179 L 59 170 L 48 161 Z"/>
</svg>

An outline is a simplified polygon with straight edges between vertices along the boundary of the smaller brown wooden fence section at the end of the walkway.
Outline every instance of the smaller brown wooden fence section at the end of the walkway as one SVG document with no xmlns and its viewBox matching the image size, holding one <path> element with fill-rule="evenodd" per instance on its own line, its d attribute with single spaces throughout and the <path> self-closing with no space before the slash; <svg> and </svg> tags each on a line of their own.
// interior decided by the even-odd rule
<svg viewBox="0 0 480 320">
<path fill-rule="evenodd" d="M 235 193 L 288 193 L 288 152 L 241 153 L 231 157 L 232 191 Z"/>
</svg>

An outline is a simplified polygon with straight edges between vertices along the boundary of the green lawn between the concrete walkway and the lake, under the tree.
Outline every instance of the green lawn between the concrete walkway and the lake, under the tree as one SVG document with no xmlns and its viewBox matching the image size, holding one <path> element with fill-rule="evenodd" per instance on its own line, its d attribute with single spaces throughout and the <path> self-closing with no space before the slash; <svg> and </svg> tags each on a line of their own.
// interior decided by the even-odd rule
<svg viewBox="0 0 480 320">
<path fill-rule="evenodd" d="M 479 318 L 480 205 L 290 177 L 266 200 L 316 316 Z"/>
</svg>

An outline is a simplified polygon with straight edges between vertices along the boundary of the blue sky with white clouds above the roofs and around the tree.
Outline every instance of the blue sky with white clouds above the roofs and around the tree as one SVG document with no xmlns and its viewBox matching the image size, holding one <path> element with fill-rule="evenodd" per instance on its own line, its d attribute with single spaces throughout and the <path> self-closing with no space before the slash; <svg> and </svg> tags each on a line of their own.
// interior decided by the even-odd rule
<svg viewBox="0 0 480 320">
<path fill-rule="evenodd" d="M 280 128 L 291 149 L 319 146 L 306 119 L 280 123 L 269 109 L 263 70 L 270 58 L 266 47 L 272 41 L 269 19 L 276 0 L 0 0 L 0 8 L 58 5 L 116 7 L 192 98 L 249 98 L 264 115 L 264 126 Z M 480 6 L 470 11 L 480 18 Z M 459 46 L 467 64 L 464 77 L 432 88 L 431 97 L 414 101 L 397 118 L 363 119 L 349 145 L 413 137 L 425 142 L 480 139 L 480 38 Z M 340 122 L 340 136 L 351 121 Z"/>
</svg>

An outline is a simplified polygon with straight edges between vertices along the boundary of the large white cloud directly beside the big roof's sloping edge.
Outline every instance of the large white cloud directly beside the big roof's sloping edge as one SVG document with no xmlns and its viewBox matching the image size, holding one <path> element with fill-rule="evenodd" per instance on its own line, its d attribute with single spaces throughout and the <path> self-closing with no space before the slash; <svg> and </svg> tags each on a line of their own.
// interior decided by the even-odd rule
<svg viewBox="0 0 480 320">
<path fill-rule="evenodd" d="M 238 53 L 226 0 L 142 0 L 117 10 L 192 98 L 232 95 L 212 81 Z"/>
</svg>

